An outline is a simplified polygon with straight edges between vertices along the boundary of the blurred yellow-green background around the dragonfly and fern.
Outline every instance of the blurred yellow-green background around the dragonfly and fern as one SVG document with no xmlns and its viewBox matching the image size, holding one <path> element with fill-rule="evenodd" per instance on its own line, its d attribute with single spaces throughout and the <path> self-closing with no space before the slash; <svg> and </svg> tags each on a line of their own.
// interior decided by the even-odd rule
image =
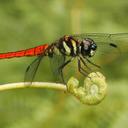
<svg viewBox="0 0 128 128">
<path fill-rule="evenodd" d="M 128 1 L 0 0 L 0 52 L 53 42 L 65 34 L 94 32 L 128 32 Z M 108 95 L 96 106 L 47 89 L 0 92 L 0 128 L 127 128 L 127 57 L 106 65 Z M 0 60 L 1 84 L 23 81 L 33 59 Z"/>
</svg>

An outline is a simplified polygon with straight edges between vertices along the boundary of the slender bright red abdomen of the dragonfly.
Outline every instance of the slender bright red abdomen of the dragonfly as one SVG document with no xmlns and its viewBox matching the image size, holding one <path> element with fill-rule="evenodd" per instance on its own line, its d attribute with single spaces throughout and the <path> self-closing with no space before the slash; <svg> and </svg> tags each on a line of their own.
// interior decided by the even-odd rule
<svg viewBox="0 0 128 128">
<path fill-rule="evenodd" d="M 48 44 L 44 44 L 34 48 L 26 49 L 26 50 L 0 53 L 0 59 L 9 59 L 14 57 L 24 57 L 24 56 L 37 56 L 37 55 L 43 54 L 47 48 L 48 48 Z"/>
</svg>

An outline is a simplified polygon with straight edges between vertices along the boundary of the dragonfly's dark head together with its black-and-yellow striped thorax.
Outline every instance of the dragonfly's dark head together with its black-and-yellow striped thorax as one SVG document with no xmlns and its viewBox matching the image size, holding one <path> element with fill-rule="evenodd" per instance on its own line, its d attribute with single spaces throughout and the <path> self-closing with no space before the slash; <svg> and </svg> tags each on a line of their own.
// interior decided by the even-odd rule
<svg viewBox="0 0 128 128">
<path fill-rule="evenodd" d="M 57 48 L 65 56 L 82 55 L 83 57 L 92 57 L 95 54 L 97 45 L 89 38 L 76 40 L 72 36 L 64 36 L 59 40 Z"/>
</svg>

